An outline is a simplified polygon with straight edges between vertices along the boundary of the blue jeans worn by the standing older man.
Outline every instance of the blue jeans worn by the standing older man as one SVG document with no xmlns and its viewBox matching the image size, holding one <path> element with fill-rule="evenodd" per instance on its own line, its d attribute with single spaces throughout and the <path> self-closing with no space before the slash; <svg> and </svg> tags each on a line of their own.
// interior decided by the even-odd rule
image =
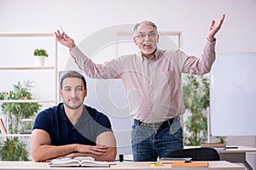
<svg viewBox="0 0 256 170">
<path fill-rule="evenodd" d="M 177 116 L 169 126 L 152 128 L 134 122 L 131 128 L 133 161 L 156 161 L 173 150 L 183 149 L 183 129 Z"/>
</svg>

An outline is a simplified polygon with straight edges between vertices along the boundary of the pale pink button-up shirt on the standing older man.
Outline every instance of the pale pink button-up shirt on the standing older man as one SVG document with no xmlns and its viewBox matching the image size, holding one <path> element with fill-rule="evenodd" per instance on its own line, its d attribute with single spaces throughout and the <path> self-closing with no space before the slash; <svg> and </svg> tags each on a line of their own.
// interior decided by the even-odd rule
<svg viewBox="0 0 256 170">
<path fill-rule="evenodd" d="M 182 51 L 157 49 L 154 57 L 122 55 L 101 65 L 79 48 L 70 51 L 79 67 L 91 78 L 121 78 L 130 102 L 131 116 L 141 122 L 163 122 L 185 112 L 182 73 L 204 74 L 215 60 L 216 41 L 207 41 L 201 58 Z"/>
</svg>

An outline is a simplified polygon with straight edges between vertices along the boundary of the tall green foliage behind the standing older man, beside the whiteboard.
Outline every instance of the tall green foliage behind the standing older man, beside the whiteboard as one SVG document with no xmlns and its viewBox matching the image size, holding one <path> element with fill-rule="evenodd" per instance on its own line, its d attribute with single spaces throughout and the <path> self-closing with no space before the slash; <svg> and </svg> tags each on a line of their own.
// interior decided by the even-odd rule
<svg viewBox="0 0 256 170">
<path fill-rule="evenodd" d="M 183 82 L 183 99 L 185 108 L 189 112 L 184 122 L 185 145 L 200 145 L 207 140 L 209 81 L 205 76 L 186 76 Z"/>
</svg>

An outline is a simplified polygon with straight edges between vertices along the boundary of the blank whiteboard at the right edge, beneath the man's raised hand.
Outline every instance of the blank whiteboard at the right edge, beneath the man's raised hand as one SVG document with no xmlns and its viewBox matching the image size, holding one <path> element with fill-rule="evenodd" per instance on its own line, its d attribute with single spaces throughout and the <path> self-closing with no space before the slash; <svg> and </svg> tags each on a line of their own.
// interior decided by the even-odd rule
<svg viewBox="0 0 256 170">
<path fill-rule="evenodd" d="M 256 135 L 256 53 L 217 54 L 210 112 L 213 136 Z"/>
</svg>

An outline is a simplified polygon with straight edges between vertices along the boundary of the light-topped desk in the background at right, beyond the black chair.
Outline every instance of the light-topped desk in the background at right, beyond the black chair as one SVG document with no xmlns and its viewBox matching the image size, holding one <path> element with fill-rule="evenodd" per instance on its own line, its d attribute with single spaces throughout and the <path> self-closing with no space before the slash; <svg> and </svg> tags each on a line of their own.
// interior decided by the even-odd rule
<svg viewBox="0 0 256 170">
<path fill-rule="evenodd" d="M 222 161 L 230 161 L 233 163 L 242 163 L 248 170 L 253 170 L 246 160 L 247 152 L 255 152 L 256 148 L 247 146 L 238 146 L 237 149 L 217 150 Z"/>
</svg>

